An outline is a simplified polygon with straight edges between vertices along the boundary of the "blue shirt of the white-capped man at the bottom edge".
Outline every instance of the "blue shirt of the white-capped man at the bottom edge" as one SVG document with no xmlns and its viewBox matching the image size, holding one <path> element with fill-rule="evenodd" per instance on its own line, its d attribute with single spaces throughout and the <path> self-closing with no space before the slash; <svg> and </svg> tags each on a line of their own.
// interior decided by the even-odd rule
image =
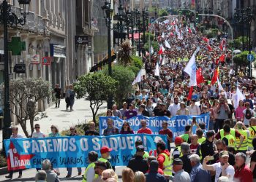
<svg viewBox="0 0 256 182">
<path fill-rule="evenodd" d="M 192 167 L 190 179 L 191 182 L 206 182 L 211 181 L 211 175 L 207 170 L 203 170 L 203 166 L 198 163 Z"/>
</svg>

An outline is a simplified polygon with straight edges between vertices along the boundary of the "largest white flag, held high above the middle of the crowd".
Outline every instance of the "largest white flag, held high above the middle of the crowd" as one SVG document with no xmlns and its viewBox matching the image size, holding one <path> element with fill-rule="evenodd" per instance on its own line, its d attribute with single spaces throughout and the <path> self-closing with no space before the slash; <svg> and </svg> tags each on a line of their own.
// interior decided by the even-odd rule
<svg viewBox="0 0 256 182">
<path fill-rule="evenodd" d="M 184 68 L 184 71 L 190 76 L 189 87 L 197 86 L 197 66 L 195 64 L 195 53 L 190 58 L 189 63 L 187 63 L 186 68 Z"/>
</svg>

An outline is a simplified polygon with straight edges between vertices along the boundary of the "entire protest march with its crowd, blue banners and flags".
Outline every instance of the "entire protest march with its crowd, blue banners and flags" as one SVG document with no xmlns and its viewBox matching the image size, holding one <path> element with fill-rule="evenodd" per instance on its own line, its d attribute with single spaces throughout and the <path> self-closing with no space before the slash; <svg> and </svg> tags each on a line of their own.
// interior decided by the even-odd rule
<svg viewBox="0 0 256 182">
<path fill-rule="evenodd" d="M 6 178 L 35 168 L 36 179 L 45 170 L 59 181 L 59 168 L 66 178 L 78 168 L 83 181 L 117 181 L 124 167 L 123 181 L 256 181 L 255 77 L 235 68 L 225 35 L 208 39 L 178 17 L 159 20 L 157 32 L 134 91 L 83 135 L 70 127 L 61 136 L 53 123 L 49 135 L 35 124 L 23 138 L 12 127 Z"/>
</svg>

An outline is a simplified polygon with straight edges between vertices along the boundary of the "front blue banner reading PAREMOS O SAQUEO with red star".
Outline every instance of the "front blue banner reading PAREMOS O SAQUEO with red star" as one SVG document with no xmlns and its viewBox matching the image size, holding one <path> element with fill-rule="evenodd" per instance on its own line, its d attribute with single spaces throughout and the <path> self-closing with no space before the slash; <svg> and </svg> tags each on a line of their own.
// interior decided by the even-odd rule
<svg viewBox="0 0 256 182">
<path fill-rule="evenodd" d="M 97 151 L 100 157 L 102 146 L 113 149 L 110 163 L 113 166 L 127 165 L 135 154 L 135 141 L 143 141 L 146 151 L 155 155 L 159 140 L 167 141 L 166 135 L 112 135 L 71 136 L 55 138 L 22 138 L 4 140 L 7 151 L 8 170 L 41 168 L 42 161 L 50 159 L 53 167 L 86 167 L 88 154 Z"/>
</svg>

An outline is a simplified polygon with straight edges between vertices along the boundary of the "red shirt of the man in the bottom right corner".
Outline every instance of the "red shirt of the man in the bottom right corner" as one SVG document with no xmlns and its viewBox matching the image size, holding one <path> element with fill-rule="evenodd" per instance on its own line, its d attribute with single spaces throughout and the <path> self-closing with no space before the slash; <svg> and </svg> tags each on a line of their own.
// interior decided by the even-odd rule
<svg viewBox="0 0 256 182">
<path fill-rule="evenodd" d="M 236 168 L 234 178 L 239 179 L 240 182 L 252 182 L 252 171 L 248 165 L 243 165 L 240 169 Z"/>
</svg>

